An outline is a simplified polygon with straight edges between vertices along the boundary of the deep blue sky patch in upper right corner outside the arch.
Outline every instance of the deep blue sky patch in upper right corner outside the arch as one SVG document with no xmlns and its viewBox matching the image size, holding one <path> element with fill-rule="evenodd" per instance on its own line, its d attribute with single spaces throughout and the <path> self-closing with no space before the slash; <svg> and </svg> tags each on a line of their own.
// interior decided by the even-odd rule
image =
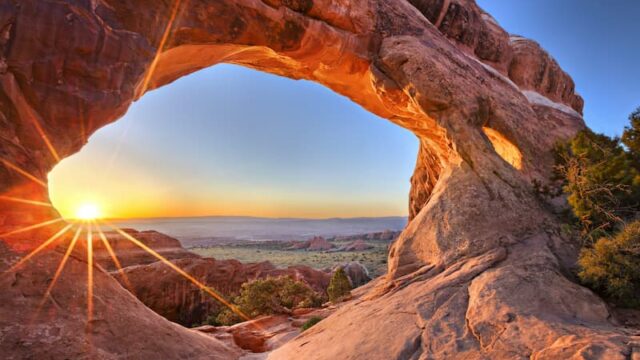
<svg viewBox="0 0 640 360">
<path fill-rule="evenodd" d="M 622 133 L 640 106 L 640 1 L 477 2 L 508 32 L 538 41 L 573 77 L 589 127 Z"/>
</svg>

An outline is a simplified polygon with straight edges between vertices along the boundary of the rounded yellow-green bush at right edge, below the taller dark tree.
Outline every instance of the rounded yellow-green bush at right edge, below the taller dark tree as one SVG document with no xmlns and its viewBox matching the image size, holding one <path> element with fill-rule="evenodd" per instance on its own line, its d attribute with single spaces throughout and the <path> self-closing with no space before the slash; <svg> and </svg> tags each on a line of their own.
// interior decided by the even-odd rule
<svg viewBox="0 0 640 360">
<path fill-rule="evenodd" d="M 640 307 L 640 221 L 583 249 L 579 277 L 613 302 Z"/>
</svg>

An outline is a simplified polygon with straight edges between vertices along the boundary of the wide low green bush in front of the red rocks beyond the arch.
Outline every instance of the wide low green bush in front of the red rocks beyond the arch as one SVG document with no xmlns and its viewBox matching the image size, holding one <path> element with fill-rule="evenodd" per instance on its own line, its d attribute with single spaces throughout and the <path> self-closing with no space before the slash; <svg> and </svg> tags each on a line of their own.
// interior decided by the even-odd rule
<svg viewBox="0 0 640 360">
<path fill-rule="evenodd" d="M 319 307 L 323 300 L 322 296 L 305 283 L 280 276 L 242 284 L 240 294 L 233 302 L 245 315 L 255 318 L 261 315 L 288 314 L 297 308 Z M 216 321 L 231 325 L 242 319 L 227 308 L 220 312 Z"/>
</svg>

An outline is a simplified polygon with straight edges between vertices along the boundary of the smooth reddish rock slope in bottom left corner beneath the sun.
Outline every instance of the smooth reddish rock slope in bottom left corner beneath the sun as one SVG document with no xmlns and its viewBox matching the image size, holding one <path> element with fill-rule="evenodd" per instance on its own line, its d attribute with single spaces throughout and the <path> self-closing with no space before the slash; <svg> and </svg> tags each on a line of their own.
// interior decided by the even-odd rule
<svg viewBox="0 0 640 360">
<path fill-rule="evenodd" d="M 2 245 L 3 259 L 17 257 Z M 45 302 L 51 269 L 58 266 L 62 251 L 43 254 L 20 272 L 0 276 L 3 359 L 113 359 L 114 354 L 126 353 L 137 359 L 222 360 L 243 353 L 233 344 L 165 320 L 97 268 L 93 317 L 87 320 L 84 254 L 78 251 L 71 256 Z"/>
</svg>

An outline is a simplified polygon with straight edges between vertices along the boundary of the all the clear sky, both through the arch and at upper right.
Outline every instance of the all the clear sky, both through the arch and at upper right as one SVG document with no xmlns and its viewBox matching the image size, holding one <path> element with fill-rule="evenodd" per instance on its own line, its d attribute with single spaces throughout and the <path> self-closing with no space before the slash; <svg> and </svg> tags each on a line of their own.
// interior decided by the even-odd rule
<svg viewBox="0 0 640 360">
<path fill-rule="evenodd" d="M 594 130 L 640 106 L 640 1 L 479 0 L 572 75 Z M 406 215 L 417 141 L 319 85 L 218 65 L 153 91 L 50 174 L 110 217 Z"/>
</svg>

